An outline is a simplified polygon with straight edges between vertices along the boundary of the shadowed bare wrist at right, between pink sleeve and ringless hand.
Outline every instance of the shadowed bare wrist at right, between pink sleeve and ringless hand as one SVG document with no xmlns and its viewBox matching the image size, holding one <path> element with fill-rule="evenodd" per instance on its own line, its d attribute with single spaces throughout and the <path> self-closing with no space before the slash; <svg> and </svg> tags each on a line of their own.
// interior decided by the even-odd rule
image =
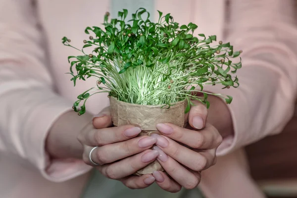
<svg viewBox="0 0 297 198">
<path fill-rule="evenodd" d="M 234 134 L 233 121 L 228 104 L 216 96 L 208 96 L 210 106 L 208 109 L 207 122 L 213 125 L 221 134 L 227 137 Z"/>
</svg>

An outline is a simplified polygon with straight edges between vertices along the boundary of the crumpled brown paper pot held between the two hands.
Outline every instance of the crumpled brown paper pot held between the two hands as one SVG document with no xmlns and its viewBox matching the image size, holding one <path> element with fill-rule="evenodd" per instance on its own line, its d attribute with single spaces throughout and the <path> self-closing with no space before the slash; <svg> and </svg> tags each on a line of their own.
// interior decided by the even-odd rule
<svg viewBox="0 0 297 198">
<path fill-rule="evenodd" d="M 179 101 L 171 105 L 170 108 L 164 105 L 141 105 L 131 104 L 119 101 L 114 97 L 110 97 L 110 112 L 114 126 L 131 124 L 140 127 L 143 131 L 140 136 L 158 133 L 156 124 L 172 123 L 180 127 L 185 125 L 185 108 L 187 100 Z M 155 160 L 148 166 L 137 171 L 136 175 L 151 174 L 153 171 L 163 171 L 161 164 Z"/>
</svg>

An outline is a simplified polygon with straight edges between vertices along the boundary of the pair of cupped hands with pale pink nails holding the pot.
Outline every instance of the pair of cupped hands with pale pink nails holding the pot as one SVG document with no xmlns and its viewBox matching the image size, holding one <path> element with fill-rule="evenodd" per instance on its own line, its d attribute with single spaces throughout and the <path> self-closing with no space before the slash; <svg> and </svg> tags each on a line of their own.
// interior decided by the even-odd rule
<svg viewBox="0 0 297 198">
<path fill-rule="evenodd" d="M 179 192 L 181 187 L 196 188 L 200 171 L 216 162 L 216 148 L 222 137 L 215 127 L 206 123 L 207 109 L 201 103 L 192 106 L 189 125 L 181 128 L 170 123 L 160 123 L 156 127 L 161 135 L 137 137 L 139 127 L 124 125 L 111 127 L 108 108 L 93 119 L 78 136 L 84 146 L 83 160 L 92 160 L 100 166 L 96 168 L 107 178 L 121 181 L 131 189 L 142 189 L 156 182 L 168 192 Z M 156 145 L 153 147 L 153 145 Z M 157 159 L 164 170 L 142 176 L 132 175 Z"/>
</svg>

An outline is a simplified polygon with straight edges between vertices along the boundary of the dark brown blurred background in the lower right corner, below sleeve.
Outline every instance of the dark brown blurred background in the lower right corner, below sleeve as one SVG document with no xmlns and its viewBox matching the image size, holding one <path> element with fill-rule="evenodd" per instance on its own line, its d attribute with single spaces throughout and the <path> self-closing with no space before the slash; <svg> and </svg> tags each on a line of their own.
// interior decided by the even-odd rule
<svg viewBox="0 0 297 198">
<path fill-rule="evenodd" d="M 282 133 L 246 147 L 252 177 L 271 198 L 297 198 L 297 103 Z"/>
</svg>

